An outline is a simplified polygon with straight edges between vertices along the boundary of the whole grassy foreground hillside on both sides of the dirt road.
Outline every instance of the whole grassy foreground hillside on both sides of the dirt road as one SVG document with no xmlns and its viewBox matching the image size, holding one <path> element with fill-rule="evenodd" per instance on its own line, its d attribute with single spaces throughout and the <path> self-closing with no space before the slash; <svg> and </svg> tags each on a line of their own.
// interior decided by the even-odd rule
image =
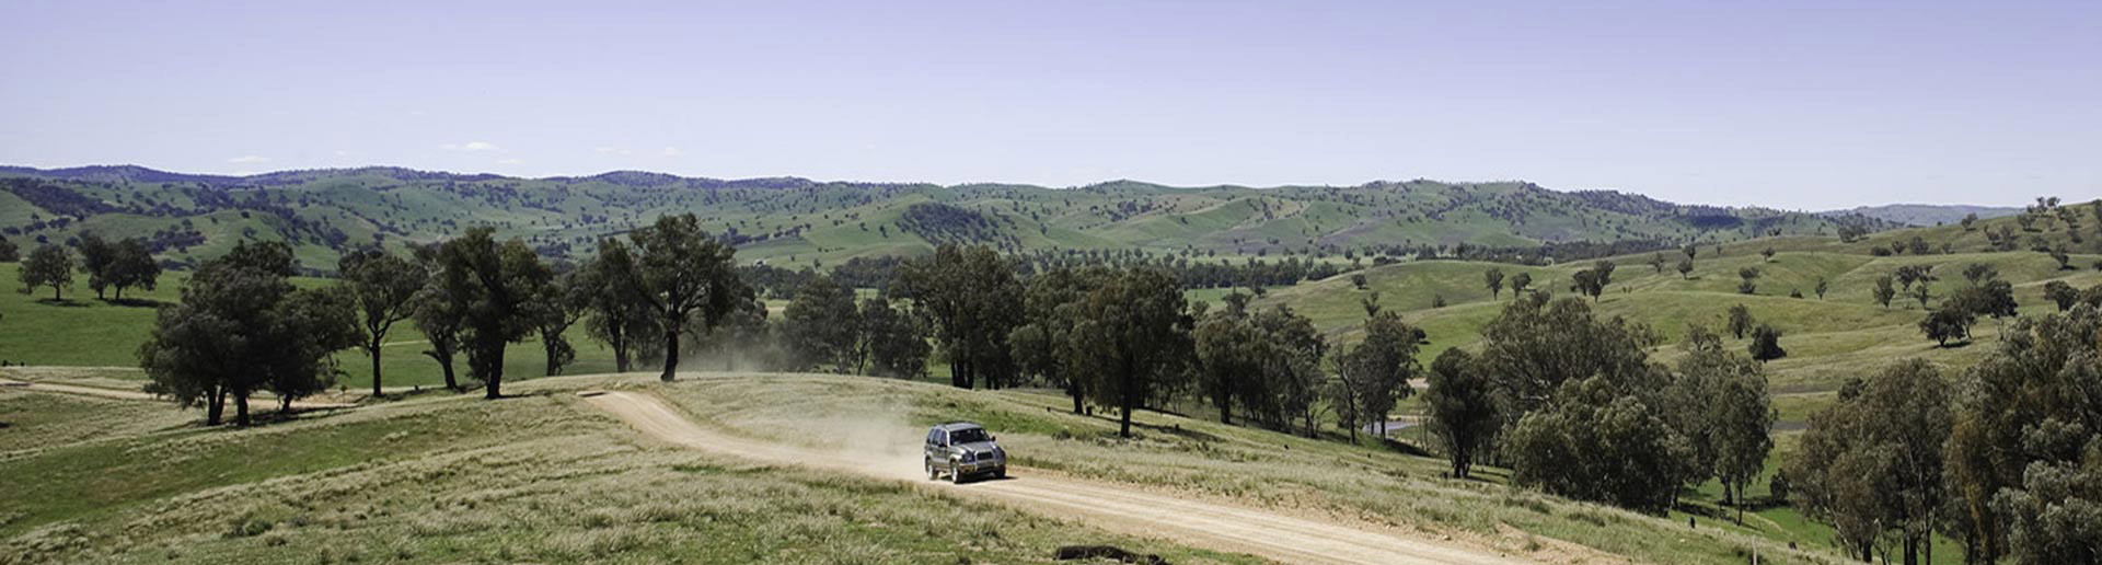
<svg viewBox="0 0 2102 565">
<path fill-rule="evenodd" d="M 1511 491 L 1501 470 L 1141 414 L 1139 437 L 1062 414 L 1051 391 L 967 393 L 858 376 L 694 374 L 549 378 L 523 397 L 425 395 L 246 431 L 189 428 L 141 401 L 0 389 L 4 563 L 1043 563 L 1059 544 L 1116 544 L 1173 563 L 1244 557 L 1089 529 L 912 483 L 753 466 L 654 443 L 572 391 L 660 395 L 734 433 L 813 447 L 916 441 L 925 424 L 986 422 L 1017 473 L 1066 475 L 1455 540 L 1513 557 L 1644 563 L 1841 563 L 1787 515 L 1745 527 L 1646 517 Z M 137 412 L 141 418 L 101 418 Z M 822 416 L 813 416 L 822 414 Z M 1143 458 L 1146 464 L 1133 464 Z M 1028 475 L 1022 475 L 1024 479 Z M 1701 491 L 1688 491 L 1705 502 Z M 1703 510 L 1709 512 L 1709 510 Z M 1789 550 L 1797 542 L 1806 550 Z M 296 550 L 296 557 L 294 557 Z"/>
</svg>

